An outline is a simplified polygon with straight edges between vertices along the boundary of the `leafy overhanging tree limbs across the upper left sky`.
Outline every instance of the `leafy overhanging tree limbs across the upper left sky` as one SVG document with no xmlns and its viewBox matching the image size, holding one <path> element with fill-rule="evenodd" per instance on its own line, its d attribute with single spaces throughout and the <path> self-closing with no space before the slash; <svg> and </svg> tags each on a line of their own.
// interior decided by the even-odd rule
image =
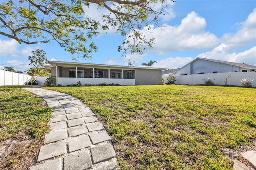
<svg viewBox="0 0 256 170">
<path fill-rule="evenodd" d="M 96 45 L 88 39 L 99 34 L 101 28 L 116 29 L 124 36 L 124 42 L 118 47 L 123 53 L 142 53 L 146 46 L 152 47 L 143 34 L 145 26 L 158 24 L 158 17 L 165 13 L 166 2 L 174 0 L 21 0 L 2 1 L 0 4 L 0 34 L 17 40 L 19 43 L 35 44 L 56 41 L 66 51 L 77 57 L 90 58 Z M 160 3 L 159 10 L 155 10 Z M 101 21 L 84 16 L 85 8 L 97 4 L 109 14 L 102 15 Z M 132 39 L 133 41 L 131 41 Z"/>
</svg>

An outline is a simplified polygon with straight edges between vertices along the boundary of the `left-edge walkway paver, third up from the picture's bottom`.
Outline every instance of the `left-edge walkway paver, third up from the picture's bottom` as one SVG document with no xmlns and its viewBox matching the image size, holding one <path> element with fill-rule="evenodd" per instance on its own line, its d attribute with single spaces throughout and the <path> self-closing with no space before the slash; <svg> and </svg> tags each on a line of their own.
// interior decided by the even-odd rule
<svg viewBox="0 0 256 170">
<path fill-rule="evenodd" d="M 55 130 L 47 133 L 44 138 L 44 143 L 56 142 L 58 140 L 64 140 L 67 138 L 66 129 Z"/>
</svg>

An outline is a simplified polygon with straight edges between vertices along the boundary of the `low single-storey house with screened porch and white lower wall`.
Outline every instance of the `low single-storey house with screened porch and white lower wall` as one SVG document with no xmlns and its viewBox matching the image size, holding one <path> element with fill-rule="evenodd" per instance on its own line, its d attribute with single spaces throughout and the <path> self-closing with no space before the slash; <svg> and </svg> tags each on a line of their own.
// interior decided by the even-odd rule
<svg viewBox="0 0 256 170">
<path fill-rule="evenodd" d="M 150 66 L 120 66 L 105 64 L 48 61 L 56 85 L 97 85 L 100 83 L 120 85 L 157 85 L 162 79 L 163 68 Z"/>
</svg>

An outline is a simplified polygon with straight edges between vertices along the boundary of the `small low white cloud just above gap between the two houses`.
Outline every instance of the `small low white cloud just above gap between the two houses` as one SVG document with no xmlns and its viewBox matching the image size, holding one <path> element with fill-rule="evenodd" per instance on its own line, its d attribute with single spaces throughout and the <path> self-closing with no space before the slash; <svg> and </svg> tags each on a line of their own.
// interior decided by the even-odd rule
<svg viewBox="0 0 256 170">
<path fill-rule="evenodd" d="M 175 57 L 175 58 L 170 57 L 170 58 L 157 61 L 157 63 L 154 63 L 154 67 L 177 69 L 177 68 L 183 67 L 184 65 L 186 65 L 192 60 L 193 60 L 192 57 Z"/>
</svg>

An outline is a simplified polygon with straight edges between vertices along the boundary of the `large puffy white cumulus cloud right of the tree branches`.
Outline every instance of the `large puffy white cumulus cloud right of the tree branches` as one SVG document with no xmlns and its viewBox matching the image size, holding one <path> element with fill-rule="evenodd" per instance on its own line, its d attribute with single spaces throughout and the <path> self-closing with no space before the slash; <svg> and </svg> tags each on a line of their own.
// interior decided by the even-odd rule
<svg viewBox="0 0 256 170">
<path fill-rule="evenodd" d="M 153 49 L 150 52 L 158 55 L 166 53 L 185 51 L 193 49 L 210 49 L 216 47 L 219 43 L 218 38 L 206 32 L 206 21 L 198 16 L 195 12 L 189 13 L 186 18 L 182 19 L 179 26 L 169 26 L 163 24 L 163 30 L 151 26 L 149 32 L 146 33 L 147 38 L 155 38 Z"/>
</svg>

